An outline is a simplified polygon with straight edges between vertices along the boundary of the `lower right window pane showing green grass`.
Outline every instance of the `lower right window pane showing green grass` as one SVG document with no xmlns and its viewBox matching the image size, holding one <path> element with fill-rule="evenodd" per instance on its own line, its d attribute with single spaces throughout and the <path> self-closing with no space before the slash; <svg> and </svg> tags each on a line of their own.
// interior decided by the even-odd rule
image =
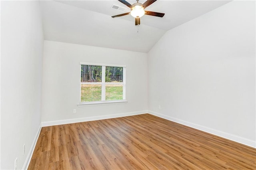
<svg viewBox="0 0 256 170">
<path fill-rule="evenodd" d="M 107 85 L 106 84 L 106 100 L 122 100 L 123 85 Z"/>
</svg>

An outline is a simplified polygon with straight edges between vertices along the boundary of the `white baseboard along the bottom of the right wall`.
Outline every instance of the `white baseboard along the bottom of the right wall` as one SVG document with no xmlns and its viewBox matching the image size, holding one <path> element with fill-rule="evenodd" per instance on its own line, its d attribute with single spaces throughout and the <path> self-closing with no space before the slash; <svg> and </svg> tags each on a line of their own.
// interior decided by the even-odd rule
<svg viewBox="0 0 256 170">
<path fill-rule="evenodd" d="M 196 128 L 198 130 L 202 130 L 204 132 L 208 132 L 210 134 L 214 134 L 214 135 L 220 136 L 222 138 L 233 140 L 235 142 L 238 142 L 238 143 L 245 144 L 247 146 L 251 146 L 253 148 L 256 148 L 256 141 L 253 141 L 253 140 L 250 140 L 250 139 L 247 139 L 247 138 L 243 138 L 241 136 L 237 136 L 237 135 L 234 135 L 234 134 L 222 132 L 220 130 L 216 130 L 216 129 L 209 128 L 209 127 L 204 127 L 202 125 L 198 125 L 198 124 L 191 123 L 191 122 L 188 122 L 188 121 L 184 121 L 184 120 L 181 120 L 181 119 L 176 119 L 174 117 L 170 117 L 170 116 L 167 116 L 167 115 L 162 115 L 160 113 L 156 113 L 156 112 L 153 112 L 153 111 L 148 111 L 148 113 L 151 114 L 151 115 L 155 115 L 157 117 L 161 117 L 163 119 L 167 119 L 169 121 L 180 123 L 180 124 L 186 125 L 188 127 Z"/>
</svg>

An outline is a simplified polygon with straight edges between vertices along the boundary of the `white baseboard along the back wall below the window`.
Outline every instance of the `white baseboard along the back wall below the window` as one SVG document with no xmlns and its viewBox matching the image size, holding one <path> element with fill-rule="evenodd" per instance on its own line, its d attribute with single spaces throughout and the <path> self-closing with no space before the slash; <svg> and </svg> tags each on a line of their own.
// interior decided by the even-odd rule
<svg viewBox="0 0 256 170">
<path fill-rule="evenodd" d="M 69 123 L 78 123 L 78 122 L 87 122 L 87 121 L 97 121 L 102 119 L 111 119 L 117 117 L 125 117 L 125 116 L 132 116 L 132 115 L 141 115 L 148 113 L 148 111 L 138 111 L 138 112 L 129 112 L 129 113 L 120 113 L 114 115 L 104 115 L 104 116 L 95 116 L 95 117 L 84 117 L 78 119 L 66 119 L 60 121 L 49 121 L 49 122 L 42 122 L 42 127 L 54 126 L 54 125 L 64 125 Z"/>
</svg>

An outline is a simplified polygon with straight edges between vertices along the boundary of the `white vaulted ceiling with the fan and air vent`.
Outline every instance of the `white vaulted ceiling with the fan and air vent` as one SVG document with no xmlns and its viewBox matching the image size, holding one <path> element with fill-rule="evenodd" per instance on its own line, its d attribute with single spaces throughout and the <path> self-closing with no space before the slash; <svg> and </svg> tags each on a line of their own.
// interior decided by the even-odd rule
<svg viewBox="0 0 256 170">
<path fill-rule="evenodd" d="M 144 3 L 146 0 L 140 0 Z M 135 0 L 127 0 L 130 4 Z M 142 16 L 140 26 L 118 0 L 41 1 L 44 39 L 147 53 L 167 30 L 201 16 L 230 1 L 158 0 L 146 10 L 165 13 L 163 18 Z M 124 12 L 112 5 L 126 8 Z"/>
</svg>

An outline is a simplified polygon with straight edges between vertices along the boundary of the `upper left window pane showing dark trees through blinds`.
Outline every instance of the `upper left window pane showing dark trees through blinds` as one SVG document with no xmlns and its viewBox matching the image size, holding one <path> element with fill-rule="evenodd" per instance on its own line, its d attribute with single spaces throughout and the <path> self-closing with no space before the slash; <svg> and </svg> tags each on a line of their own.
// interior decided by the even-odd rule
<svg viewBox="0 0 256 170">
<path fill-rule="evenodd" d="M 81 65 L 81 82 L 101 82 L 102 66 Z"/>
</svg>

